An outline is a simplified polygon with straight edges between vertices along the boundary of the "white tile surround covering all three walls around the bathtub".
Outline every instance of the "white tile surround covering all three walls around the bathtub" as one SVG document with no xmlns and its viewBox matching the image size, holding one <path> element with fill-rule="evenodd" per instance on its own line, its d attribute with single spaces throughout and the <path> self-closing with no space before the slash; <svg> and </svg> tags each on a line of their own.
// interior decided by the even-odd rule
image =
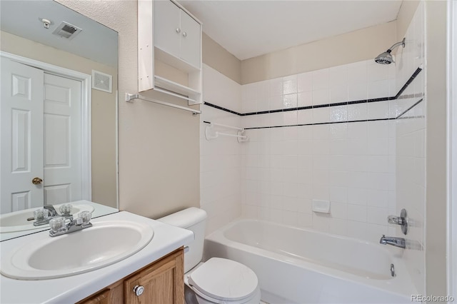
<svg viewBox="0 0 457 304">
<path fill-rule="evenodd" d="M 275 78 L 243 86 L 204 66 L 204 100 L 241 113 L 345 103 L 395 96 L 423 68 L 423 4 L 406 34 L 396 64 L 373 60 Z M 408 242 L 424 244 L 425 119 L 391 121 L 424 93 L 424 72 L 401 98 L 253 116 L 202 106 L 201 121 L 245 128 L 250 140 L 204 139 L 201 123 L 201 208 L 208 233 L 237 216 L 311 227 L 378 242 L 401 236 L 386 217 L 407 208 L 413 222 Z M 406 116 L 423 116 L 425 101 Z M 360 122 L 348 122 L 360 121 Z M 295 124 L 339 122 L 313 126 Z M 331 201 L 330 214 L 311 211 L 312 199 Z M 425 293 L 424 253 L 405 250 L 419 293 Z"/>
</svg>

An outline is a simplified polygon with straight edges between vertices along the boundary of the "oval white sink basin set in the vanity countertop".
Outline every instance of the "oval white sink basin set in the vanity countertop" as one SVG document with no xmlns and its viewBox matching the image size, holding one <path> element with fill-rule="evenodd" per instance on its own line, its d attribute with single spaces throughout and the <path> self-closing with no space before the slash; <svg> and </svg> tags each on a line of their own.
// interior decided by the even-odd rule
<svg viewBox="0 0 457 304">
<path fill-rule="evenodd" d="M 151 226 L 131 221 L 100 221 L 94 226 L 23 245 L 1 257 L 0 272 L 9 278 L 44 280 L 96 270 L 123 260 L 146 246 Z"/>
</svg>

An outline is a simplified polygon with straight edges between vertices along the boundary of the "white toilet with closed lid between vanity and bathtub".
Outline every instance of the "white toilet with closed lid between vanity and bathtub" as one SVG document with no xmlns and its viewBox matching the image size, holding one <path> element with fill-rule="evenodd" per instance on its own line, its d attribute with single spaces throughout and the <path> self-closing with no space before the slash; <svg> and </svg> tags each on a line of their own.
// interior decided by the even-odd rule
<svg viewBox="0 0 457 304">
<path fill-rule="evenodd" d="M 157 221 L 194 232 L 194 241 L 184 250 L 184 283 L 194 292 L 199 304 L 260 303 L 257 275 L 246 265 L 226 258 L 201 262 L 206 211 L 191 207 Z"/>
</svg>

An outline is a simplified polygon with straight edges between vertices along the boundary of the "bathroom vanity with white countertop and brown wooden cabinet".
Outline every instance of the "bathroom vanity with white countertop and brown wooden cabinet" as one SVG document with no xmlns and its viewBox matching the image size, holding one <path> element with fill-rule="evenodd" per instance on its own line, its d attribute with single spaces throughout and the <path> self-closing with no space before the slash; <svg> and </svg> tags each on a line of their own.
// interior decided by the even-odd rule
<svg viewBox="0 0 457 304">
<path fill-rule="evenodd" d="M 1 303 L 184 303 L 183 246 L 193 240 L 189 230 L 121 211 L 91 221 L 93 227 L 57 238 L 71 238 L 72 234 L 89 231 L 106 223 L 139 223 L 154 230 L 151 241 L 141 250 L 96 270 L 77 275 L 47 279 L 14 279 L 1 275 Z M 107 230 L 108 231 L 108 230 Z M 2 268 L 11 252 L 51 238 L 42 231 L 1 243 Z M 119 240 L 119 235 L 106 235 Z M 64 240 L 64 239 L 61 239 Z M 77 250 L 90 251 L 84 242 Z M 62 253 L 64 249 L 62 249 Z M 59 260 L 59 253 L 50 260 Z M 71 273 L 69 260 L 69 273 Z M 64 266 L 61 266 L 61 268 Z M 3 271 L 3 270 L 2 270 Z M 68 274 L 66 274 L 68 275 Z"/>
</svg>

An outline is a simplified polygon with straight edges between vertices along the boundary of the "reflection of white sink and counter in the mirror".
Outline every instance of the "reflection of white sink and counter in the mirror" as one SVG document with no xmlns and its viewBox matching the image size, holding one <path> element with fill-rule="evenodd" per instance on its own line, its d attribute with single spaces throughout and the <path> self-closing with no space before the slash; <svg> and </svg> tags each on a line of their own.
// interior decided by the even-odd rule
<svg viewBox="0 0 457 304">
<path fill-rule="evenodd" d="M 55 205 L 57 211 L 59 211 L 59 207 L 63 205 Z M 21 211 L 15 211 L 11 213 L 2 214 L 0 216 L 0 233 L 11 233 L 17 231 L 25 231 L 25 230 L 34 230 L 34 229 L 43 229 L 49 228 L 49 225 L 42 225 L 42 226 L 34 226 L 34 221 L 27 221 L 27 218 L 34 217 L 34 211 L 39 208 L 30 208 Z M 73 205 L 71 208 L 71 214 L 73 214 L 74 218 L 78 217 L 78 213 L 81 211 L 89 211 L 94 212 L 94 207 L 89 205 Z"/>
</svg>

